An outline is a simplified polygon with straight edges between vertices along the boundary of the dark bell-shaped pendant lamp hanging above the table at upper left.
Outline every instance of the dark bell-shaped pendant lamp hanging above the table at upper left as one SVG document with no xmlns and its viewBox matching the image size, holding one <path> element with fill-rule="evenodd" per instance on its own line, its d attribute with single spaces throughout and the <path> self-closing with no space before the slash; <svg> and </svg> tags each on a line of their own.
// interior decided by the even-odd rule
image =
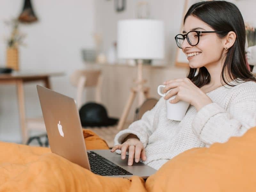
<svg viewBox="0 0 256 192">
<path fill-rule="evenodd" d="M 33 11 L 30 0 L 25 0 L 23 10 L 20 13 L 19 21 L 22 23 L 32 23 L 37 21 L 35 12 Z"/>
</svg>

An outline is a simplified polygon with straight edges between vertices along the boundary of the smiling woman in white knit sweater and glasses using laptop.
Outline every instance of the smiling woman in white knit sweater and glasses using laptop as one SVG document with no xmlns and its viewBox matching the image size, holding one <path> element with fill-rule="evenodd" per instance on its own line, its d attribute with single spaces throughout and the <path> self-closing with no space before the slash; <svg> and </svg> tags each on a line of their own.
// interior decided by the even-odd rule
<svg viewBox="0 0 256 192">
<path fill-rule="evenodd" d="M 141 161 L 159 169 L 190 148 L 207 147 L 241 136 L 256 125 L 256 79 L 245 61 L 245 27 L 238 8 L 226 1 L 193 4 L 175 37 L 187 55 L 187 78 L 164 82 L 172 89 L 141 120 L 115 137 L 112 152 L 129 153 L 128 165 Z M 190 103 L 182 121 L 166 118 L 165 100 Z"/>
</svg>

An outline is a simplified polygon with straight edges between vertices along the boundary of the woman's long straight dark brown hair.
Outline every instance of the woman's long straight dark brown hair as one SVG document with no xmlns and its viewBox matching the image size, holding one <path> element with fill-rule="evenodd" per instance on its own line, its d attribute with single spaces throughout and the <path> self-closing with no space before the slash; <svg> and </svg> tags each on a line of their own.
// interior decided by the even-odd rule
<svg viewBox="0 0 256 192">
<path fill-rule="evenodd" d="M 215 31 L 223 31 L 224 33 L 217 34 L 220 38 L 225 37 L 229 31 L 235 32 L 236 41 L 228 49 L 221 71 L 221 77 L 225 84 L 228 84 L 224 79 L 225 68 L 228 69 L 228 75 L 231 78 L 233 77 L 232 80 L 239 78 L 243 81 L 256 82 L 256 78 L 246 66 L 245 26 L 242 14 L 236 5 L 227 1 L 203 1 L 193 4 L 188 9 L 184 17 L 184 23 L 189 15 L 202 20 Z M 196 70 L 197 68 L 189 68 L 187 77 L 199 88 L 205 84 L 209 84 L 211 76 L 208 70 L 205 67 L 201 67 L 198 69 L 197 75 Z"/>
</svg>

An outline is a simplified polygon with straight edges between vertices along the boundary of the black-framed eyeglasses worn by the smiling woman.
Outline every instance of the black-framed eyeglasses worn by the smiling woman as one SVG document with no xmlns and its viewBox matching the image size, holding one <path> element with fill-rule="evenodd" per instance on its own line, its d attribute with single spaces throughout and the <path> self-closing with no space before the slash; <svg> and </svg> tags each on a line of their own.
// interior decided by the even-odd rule
<svg viewBox="0 0 256 192">
<path fill-rule="evenodd" d="M 190 45 L 195 46 L 199 43 L 199 36 L 201 33 L 224 33 L 222 31 L 189 31 L 187 34 L 178 34 L 175 36 L 176 44 L 181 49 L 181 45 L 185 38 Z"/>
</svg>

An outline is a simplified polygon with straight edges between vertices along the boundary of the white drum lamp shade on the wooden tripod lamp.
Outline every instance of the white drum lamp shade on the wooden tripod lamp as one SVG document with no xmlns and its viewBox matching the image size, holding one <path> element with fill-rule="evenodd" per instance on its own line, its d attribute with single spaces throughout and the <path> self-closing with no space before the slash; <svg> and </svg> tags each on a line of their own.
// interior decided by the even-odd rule
<svg viewBox="0 0 256 192">
<path fill-rule="evenodd" d="M 164 22 L 146 19 L 118 21 L 117 55 L 120 59 L 163 59 Z"/>
</svg>

